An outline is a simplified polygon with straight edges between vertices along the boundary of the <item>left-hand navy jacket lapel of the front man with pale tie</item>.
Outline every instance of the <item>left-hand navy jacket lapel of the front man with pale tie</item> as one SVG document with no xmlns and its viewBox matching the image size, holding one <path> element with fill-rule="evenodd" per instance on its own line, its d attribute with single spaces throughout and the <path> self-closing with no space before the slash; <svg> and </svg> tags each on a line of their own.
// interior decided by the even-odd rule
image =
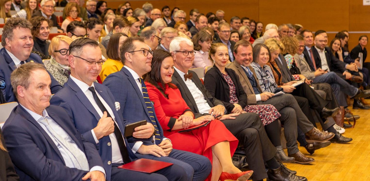
<svg viewBox="0 0 370 181">
<path fill-rule="evenodd" d="M 31 122 L 34 126 L 36 126 L 36 128 L 38 130 L 40 130 L 40 132 L 43 134 L 44 138 L 47 140 L 47 142 L 49 142 L 49 144 L 51 145 L 51 147 L 53 147 L 55 153 L 58 154 L 58 156 L 60 157 L 60 159 L 63 161 L 63 164 L 65 165 L 64 163 L 64 159 L 63 159 L 63 156 L 62 154 L 60 153 L 57 145 L 55 145 L 54 141 L 50 138 L 50 136 L 46 133 L 46 131 L 40 126 L 40 124 L 21 106 L 21 105 L 18 105 L 17 106 L 17 110 L 16 110 L 24 119 L 27 119 L 27 121 Z M 49 113 L 48 113 L 49 114 Z"/>
</svg>

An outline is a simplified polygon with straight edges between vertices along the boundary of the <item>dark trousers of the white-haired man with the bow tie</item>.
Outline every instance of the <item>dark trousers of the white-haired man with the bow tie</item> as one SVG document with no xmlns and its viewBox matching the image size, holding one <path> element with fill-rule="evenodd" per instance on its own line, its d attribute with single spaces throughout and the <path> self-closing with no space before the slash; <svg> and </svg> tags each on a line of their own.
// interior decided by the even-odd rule
<svg viewBox="0 0 370 181">
<path fill-rule="evenodd" d="M 272 159 L 276 148 L 270 142 L 259 115 L 247 112 L 222 122 L 226 128 L 239 140 L 239 146 L 245 148 L 246 160 L 253 170 L 253 180 L 267 178 L 264 160 Z"/>
</svg>

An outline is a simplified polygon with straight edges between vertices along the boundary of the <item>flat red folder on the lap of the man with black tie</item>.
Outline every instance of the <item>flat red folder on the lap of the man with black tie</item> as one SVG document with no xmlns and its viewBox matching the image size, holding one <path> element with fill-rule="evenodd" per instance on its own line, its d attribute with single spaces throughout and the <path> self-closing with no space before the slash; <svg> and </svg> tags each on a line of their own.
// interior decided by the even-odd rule
<svg viewBox="0 0 370 181">
<path fill-rule="evenodd" d="M 161 170 L 173 165 L 173 163 L 167 163 L 164 161 L 149 160 L 149 159 L 138 159 L 130 163 L 119 166 L 118 168 L 123 168 L 126 170 L 139 171 L 144 173 L 153 173 L 155 171 Z"/>
</svg>

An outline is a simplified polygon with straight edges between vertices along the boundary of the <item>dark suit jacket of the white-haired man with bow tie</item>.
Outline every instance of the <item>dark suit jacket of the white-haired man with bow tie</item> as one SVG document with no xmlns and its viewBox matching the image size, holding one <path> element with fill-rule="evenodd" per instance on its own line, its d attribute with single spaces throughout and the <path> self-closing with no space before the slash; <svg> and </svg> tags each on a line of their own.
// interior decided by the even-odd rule
<svg viewBox="0 0 370 181">
<path fill-rule="evenodd" d="M 207 91 L 207 89 L 203 86 L 201 80 L 199 79 L 195 72 L 189 70 L 188 73 L 193 73 L 193 77 L 191 80 L 194 82 L 196 87 L 198 87 L 199 90 L 201 90 L 205 100 L 207 101 L 210 107 L 215 107 L 216 105 L 223 105 L 220 100 L 217 100 Z M 174 71 L 174 74 L 172 76 L 171 83 L 175 84 L 179 88 L 181 92 L 181 97 L 185 100 L 189 108 L 195 113 L 195 118 L 199 118 L 200 116 L 203 115 L 209 115 L 209 114 L 199 114 L 199 110 L 198 107 L 196 106 L 193 95 L 191 94 L 188 86 L 186 86 L 184 80 L 182 80 L 182 78 L 180 77 L 180 74 L 176 72 L 176 70 Z"/>
</svg>

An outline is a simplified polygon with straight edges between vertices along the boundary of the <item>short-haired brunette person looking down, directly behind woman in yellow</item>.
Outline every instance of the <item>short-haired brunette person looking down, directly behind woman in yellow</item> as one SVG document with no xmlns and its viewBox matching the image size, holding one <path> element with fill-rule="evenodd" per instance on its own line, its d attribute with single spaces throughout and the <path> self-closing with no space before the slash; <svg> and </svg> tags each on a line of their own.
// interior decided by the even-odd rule
<svg viewBox="0 0 370 181">
<path fill-rule="evenodd" d="M 123 16 L 117 16 L 113 20 L 113 29 L 110 31 L 106 36 L 104 36 L 101 39 L 101 44 L 104 46 L 104 48 L 108 48 L 108 42 L 112 35 L 116 33 L 124 33 L 127 36 L 131 36 L 130 29 L 130 22 Z"/>
</svg>

